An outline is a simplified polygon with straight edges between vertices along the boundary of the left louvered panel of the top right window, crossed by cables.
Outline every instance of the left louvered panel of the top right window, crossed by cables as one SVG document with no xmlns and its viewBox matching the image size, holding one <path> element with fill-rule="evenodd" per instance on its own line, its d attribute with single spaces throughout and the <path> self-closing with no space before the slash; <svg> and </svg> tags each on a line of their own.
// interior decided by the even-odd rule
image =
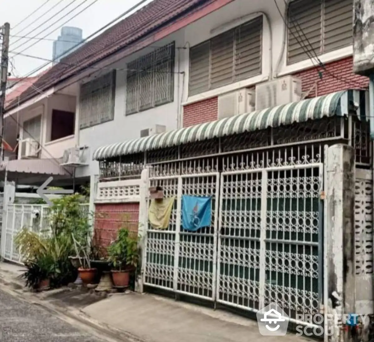
<svg viewBox="0 0 374 342">
<path fill-rule="evenodd" d="M 317 55 L 321 54 L 321 12 L 322 0 L 295 0 L 289 4 L 288 64 L 307 59 L 308 56 L 304 50 L 311 51 L 313 48 Z M 306 48 L 300 46 L 301 42 Z M 311 55 L 315 54 L 311 52 Z"/>
</svg>

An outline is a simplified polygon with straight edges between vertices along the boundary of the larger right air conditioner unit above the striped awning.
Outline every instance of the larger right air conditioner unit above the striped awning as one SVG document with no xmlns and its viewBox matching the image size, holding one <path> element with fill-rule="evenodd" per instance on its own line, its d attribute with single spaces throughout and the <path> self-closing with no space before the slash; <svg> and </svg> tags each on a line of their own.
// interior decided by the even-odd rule
<svg viewBox="0 0 374 342">
<path fill-rule="evenodd" d="M 256 110 L 301 100 L 301 79 L 285 76 L 256 86 Z"/>
</svg>

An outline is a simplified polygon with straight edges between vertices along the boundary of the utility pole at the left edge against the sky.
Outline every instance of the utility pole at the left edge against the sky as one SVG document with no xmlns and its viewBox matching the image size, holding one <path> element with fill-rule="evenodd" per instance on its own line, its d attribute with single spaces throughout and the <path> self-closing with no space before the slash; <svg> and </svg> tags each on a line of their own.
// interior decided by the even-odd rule
<svg viewBox="0 0 374 342">
<path fill-rule="evenodd" d="M 1 63 L 0 63 L 0 122 L 1 122 L 1 135 L 0 135 L 0 149 L 1 149 L 1 160 L 4 160 L 4 149 L 3 149 L 3 138 L 4 138 L 4 106 L 5 106 L 5 92 L 6 82 L 8 79 L 8 58 L 9 58 L 9 33 L 10 24 L 6 22 L 1 27 L 1 36 L 3 43 L 1 44 Z"/>
</svg>

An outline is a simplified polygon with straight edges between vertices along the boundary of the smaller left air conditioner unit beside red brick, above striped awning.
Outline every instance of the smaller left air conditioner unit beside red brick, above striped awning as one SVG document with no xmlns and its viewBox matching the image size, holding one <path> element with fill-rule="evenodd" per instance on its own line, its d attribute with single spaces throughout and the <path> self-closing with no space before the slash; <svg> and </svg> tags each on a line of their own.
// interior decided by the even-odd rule
<svg viewBox="0 0 374 342">
<path fill-rule="evenodd" d="M 254 89 L 243 88 L 218 97 L 218 119 L 254 111 Z"/>
</svg>

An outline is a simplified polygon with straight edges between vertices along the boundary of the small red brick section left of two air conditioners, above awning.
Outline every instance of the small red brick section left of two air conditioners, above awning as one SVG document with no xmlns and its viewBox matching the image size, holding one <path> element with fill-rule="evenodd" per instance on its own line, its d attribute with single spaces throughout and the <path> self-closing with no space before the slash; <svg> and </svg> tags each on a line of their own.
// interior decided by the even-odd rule
<svg viewBox="0 0 374 342">
<path fill-rule="evenodd" d="M 218 97 L 191 103 L 183 107 L 183 127 L 214 121 L 218 117 Z"/>
</svg>

